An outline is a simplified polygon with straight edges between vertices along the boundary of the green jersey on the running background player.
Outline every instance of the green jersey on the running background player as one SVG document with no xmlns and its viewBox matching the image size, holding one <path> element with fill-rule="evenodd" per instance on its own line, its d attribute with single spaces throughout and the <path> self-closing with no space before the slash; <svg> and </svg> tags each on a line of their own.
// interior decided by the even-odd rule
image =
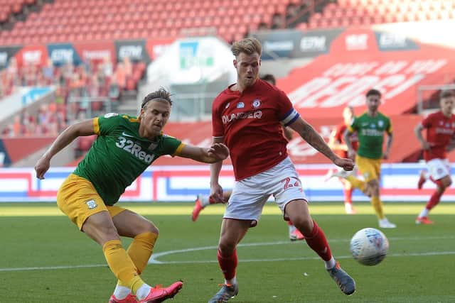
<svg viewBox="0 0 455 303">
<path fill-rule="evenodd" d="M 364 158 L 380 159 L 382 157 L 384 132 L 392 133 L 392 123 L 387 116 L 381 113 L 374 117 L 365 113 L 355 117 L 348 126 L 348 131 L 358 134 L 358 155 Z"/>
</svg>

